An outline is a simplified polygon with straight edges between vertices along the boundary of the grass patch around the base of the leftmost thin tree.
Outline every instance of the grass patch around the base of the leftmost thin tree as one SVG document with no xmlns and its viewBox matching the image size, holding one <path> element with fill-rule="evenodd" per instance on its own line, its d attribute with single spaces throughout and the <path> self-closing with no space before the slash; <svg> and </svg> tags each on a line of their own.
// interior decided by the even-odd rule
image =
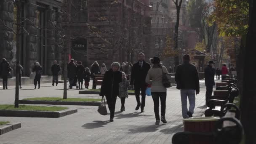
<svg viewBox="0 0 256 144">
<path fill-rule="evenodd" d="M 19 108 L 14 108 L 14 105 L 3 104 L 0 105 L 0 110 L 28 110 L 28 111 L 47 111 L 56 112 L 60 110 L 68 109 L 67 107 L 45 107 L 45 106 L 31 106 L 31 105 L 19 105 Z"/>
</svg>

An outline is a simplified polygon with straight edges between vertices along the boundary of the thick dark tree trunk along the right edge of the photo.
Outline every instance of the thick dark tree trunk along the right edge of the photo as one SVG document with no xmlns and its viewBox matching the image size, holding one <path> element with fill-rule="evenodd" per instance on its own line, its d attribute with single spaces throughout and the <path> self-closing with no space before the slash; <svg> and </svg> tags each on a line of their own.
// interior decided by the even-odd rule
<svg viewBox="0 0 256 144">
<path fill-rule="evenodd" d="M 254 7 L 255 7 L 254 3 Z M 241 122 L 245 130 L 245 144 L 256 144 L 256 75 L 252 65 L 256 63 L 256 48 L 254 42 L 256 40 L 256 10 L 253 10 L 253 0 L 250 0 L 249 10 L 249 28 L 246 37 L 244 73 L 243 73 L 243 97 L 241 101 Z M 254 27 L 253 27 L 254 26 Z M 253 29 L 254 28 L 254 29 Z"/>
</svg>

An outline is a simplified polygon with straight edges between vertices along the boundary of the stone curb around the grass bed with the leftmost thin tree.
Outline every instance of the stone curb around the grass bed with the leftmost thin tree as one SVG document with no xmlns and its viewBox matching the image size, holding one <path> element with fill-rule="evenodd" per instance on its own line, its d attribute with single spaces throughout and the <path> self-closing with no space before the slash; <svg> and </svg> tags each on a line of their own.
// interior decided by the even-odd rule
<svg viewBox="0 0 256 144">
<path fill-rule="evenodd" d="M 66 115 L 76 113 L 77 109 L 66 109 L 57 112 L 46 111 L 26 111 L 26 110 L 0 110 L 0 116 L 2 117 L 50 117 L 58 118 Z M 16 125 L 15 125 L 16 127 Z"/>
</svg>

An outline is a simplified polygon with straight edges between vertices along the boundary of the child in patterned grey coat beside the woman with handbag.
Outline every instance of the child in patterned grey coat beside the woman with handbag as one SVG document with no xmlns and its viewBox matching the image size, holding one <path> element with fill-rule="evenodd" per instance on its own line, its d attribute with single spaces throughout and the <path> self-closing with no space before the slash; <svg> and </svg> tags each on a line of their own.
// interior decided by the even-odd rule
<svg viewBox="0 0 256 144">
<path fill-rule="evenodd" d="M 125 72 L 122 72 L 122 82 L 119 83 L 119 95 L 121 99 L 121 109 L 120 111 L 125 111 L 125 98 L 128 98 L 128 87 L 130 86 L 130 81 L 126 79 Z"/>
</svg>

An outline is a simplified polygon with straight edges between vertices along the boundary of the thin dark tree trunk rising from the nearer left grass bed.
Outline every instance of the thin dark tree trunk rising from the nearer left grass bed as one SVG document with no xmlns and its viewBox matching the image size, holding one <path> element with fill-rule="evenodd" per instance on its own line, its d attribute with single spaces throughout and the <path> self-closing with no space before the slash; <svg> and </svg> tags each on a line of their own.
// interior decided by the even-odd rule
<svg viewBox="0 0 256 144">
<path fill-rule="evenodd" d="M 17 12 L 21 11 L 21 2 L 17 2 Z M 15 101 L 14 107 L 19 107 L 19 77 L 20 77 L 20 46 L 21 46 L 21 16 L 17 14 L 17 33 L 16 33 L 16 84 L 15 84 Z"/>
</svg>

